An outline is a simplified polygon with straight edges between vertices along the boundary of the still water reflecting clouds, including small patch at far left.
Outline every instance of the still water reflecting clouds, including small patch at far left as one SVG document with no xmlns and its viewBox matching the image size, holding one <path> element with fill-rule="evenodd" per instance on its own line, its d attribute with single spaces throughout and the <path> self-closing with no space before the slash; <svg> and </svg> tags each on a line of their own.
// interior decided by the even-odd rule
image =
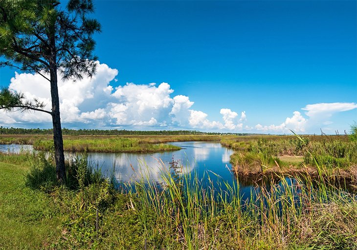
<svg viewBox="0 0 357 250">
<path fill-rule="evenodd" d="M 211 185 L 224 189 L 222 181 L 233 185 L 237 182 L 229 163 L 232 149 L 223 147 L 219 142 L 173 142 L 182 149 L 159 153 L 89 153 L 89 162 L 100 167 L 104 175 L 109 176 L 115 166 L 118 181 L 128 182 L 149 176 L 150 180 L 162 182 L 162 174 L 170 171 L 170 162 L 178 161 L 185 173 L 196 174 L 202 185 Z M 0 152 L 19 153 L 32 151 L 31 145 L 0 145 Z M 75 157 L 74 153 L 65 152 L 65 158 Z M 208 183 L 208 176 L 212 181 Z M 252 182 L 240 180 L 242 195 L 246 198 L 253 188 Z"/>
</svg>

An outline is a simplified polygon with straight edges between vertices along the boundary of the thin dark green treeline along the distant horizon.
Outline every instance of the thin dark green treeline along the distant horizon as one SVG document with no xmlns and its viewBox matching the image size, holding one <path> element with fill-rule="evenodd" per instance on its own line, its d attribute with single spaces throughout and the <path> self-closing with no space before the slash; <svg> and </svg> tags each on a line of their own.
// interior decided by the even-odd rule
<svg viewBox="0 0 357 250">
<path fill-rule="evenodd" d="M 215 132 L 201 132 L 196 130 L 158 130 L 158 131 L 139 131 L 139 130 L 101 130 L 101 129 L 68 129 L 63 128 L 64 135 L 247 135 L 245 133 L 215 133 Z M 36 134 L 48 135 L 53 134 L 53 130 L 40 128 L 16 128 L 16 127 L 2 127 L 0 126 L 0 134 Z"/>
</svg>

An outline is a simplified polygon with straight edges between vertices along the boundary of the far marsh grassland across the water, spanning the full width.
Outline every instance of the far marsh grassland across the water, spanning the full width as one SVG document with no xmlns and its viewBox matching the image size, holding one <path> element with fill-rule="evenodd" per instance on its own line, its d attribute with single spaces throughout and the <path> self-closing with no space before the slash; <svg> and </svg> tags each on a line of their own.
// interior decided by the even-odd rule
<svg viewBox="0 0 357 250">
<path fill-rule="evenodd" d="M 35 149 L 50 150 L 51 135 L 1 135 L 0 144 L 32 144 Z M 159 152 L 179 150 L 167 142 L 220 141 L 234 149 L 233 170 L 240 176 L 265 174 L 317 175 L 315 161 L 325 175 L 357 180 L 357 142 L 347 135 L 296 136 L 271 135 L 126 135 L 64 136 L 64 149 L 75 152 Z"/>
</svg>

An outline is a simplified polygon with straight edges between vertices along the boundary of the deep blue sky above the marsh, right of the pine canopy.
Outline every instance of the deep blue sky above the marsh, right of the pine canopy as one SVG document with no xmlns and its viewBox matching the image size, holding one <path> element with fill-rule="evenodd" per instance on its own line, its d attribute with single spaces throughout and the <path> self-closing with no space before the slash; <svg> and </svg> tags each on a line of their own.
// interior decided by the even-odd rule
<svg viewBox="0 0 357 250">
<path fill-rule="evenodd" d="M 290 128 L 319 134 L 320 128 L 327 133 L 335 133 L 336 129 L 343 132 L 357 120 L 356 1 L 94 3 L 93 16 L 102 24 L 102 33 L 94 36 L 95 54 L 101 64 L 118 71 L 117 75 L 107 72 L 115 76 L 103 82 L 113 87 L 112 93 L 122 86 L 119 90 L 124 94 L 93 110 L 84 103 L 78 104 L 77 116 L 87 112 L 82 115 L 87 120 L 65 118 L 66 127 L 261 133 L 287 133 Z M 0 84 L 9 85 L 15 71 L 1 68 Z M 26 92 L 20 78 L 14 81 L 17 87 L 13 89 Z M 128 87 L 127 83 L 134 85 Z M 156 85 L 140 85 L 149 83 Z M 148 109 L 140 106 L 145 112 L 141 117 L 128 114 L 136 113 L 138 108 L 128 104 L 129 89 L 152 94 L 160 83 L 170 85 L 165 88 L 170 104 Z M 171 110 L 174 97 L 179 95 L 194 102 L 186 113 L 180 109 L 180 115 Z M 113 96 L 101 98 L 109 100 Z M 126 113 L 120 111 L 118 118 L 117 113 L 107 109 L 109 102 L 124 104 Z M 309 106 L 312 116 L 307 115 L 309 108 L 302 109 L 309 104 L 315 104 Z M 105 121 L 92 121 L 90 112 L 96 109 L 111 115 L 98 115 Z M 202 113 L 206 116 L 202 117 Z M 21 120 L 13 114 L 10 121 L 8 116 L 7 122 L 0 121 L 0 125 L 50 126 L 46 118 Z"/>
</svg>

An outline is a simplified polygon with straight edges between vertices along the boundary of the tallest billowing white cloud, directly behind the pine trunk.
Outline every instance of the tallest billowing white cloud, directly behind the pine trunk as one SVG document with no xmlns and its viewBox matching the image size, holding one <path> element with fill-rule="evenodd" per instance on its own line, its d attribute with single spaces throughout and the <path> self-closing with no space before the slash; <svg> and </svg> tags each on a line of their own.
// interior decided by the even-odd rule
<svg viewBox="0 0 357 250">
<path fill-rule="evenodd" d="M 61 121 L 63 123 L 88 122 L 93 119 L 89 117 L 91 112 L 103 108 L 112 99 L 112 86 L 109 82 L 114 79 L 118 71 L 108 67 L 106 64 L 97 65 L 97 74 L 92 78 L 84 77 L 81 81 L 63 81 L 58 76 L 58 89 L 60 98 Z M 9 88 L 22 92 L 27 99 L 38 98 L 46 104 L 45 109 L 51 108 L 51 96 L 49 82 L 38 74 L 15 73 L 11 79 Z M 3 111 L 2 111 L 3 112 Z M 84 114 L 82 115 L 81 112 Z M 88 113 L 86 115 L 86 113 Z M 51 117 L 43 112 L 14 112 L 7 116 L 17 123 L 50 123 Z M 1 123 L 3 120 L 1 120 Z"/>
</svg>

